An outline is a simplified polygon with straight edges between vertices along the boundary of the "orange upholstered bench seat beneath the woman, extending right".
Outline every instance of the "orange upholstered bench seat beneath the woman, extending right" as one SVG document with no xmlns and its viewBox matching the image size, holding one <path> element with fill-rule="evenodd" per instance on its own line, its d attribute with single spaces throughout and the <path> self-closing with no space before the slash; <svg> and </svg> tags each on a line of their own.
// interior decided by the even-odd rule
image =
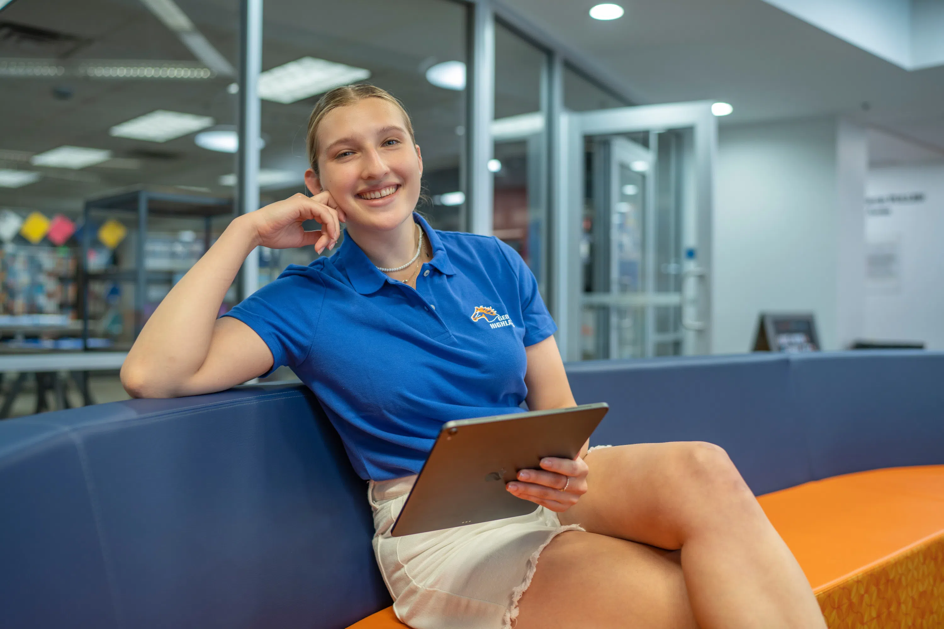
<svg viewBox="0 0 944 629">
<path fill-rule="evenodd" d="M 944 465 L 834 476 L 758 501 L 830 629 L 944 627 Z M 349 629 L 406 626 L 387 607 Z"/>
</svg>

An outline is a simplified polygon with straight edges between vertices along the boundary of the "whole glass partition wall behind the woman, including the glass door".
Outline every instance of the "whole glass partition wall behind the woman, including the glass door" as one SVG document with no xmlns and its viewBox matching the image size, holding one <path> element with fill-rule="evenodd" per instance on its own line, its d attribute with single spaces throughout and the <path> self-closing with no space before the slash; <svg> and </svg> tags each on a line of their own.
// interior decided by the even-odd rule
<svg viewBox="0 0 944 629">
<path fill-rule="evenodd" d="M 678 294 L 685 277 L 698 277 L 680 261 L 684 219 L 672 183 L 684 178 L 683 159 L 671 156 L 683 155 L 686 140 L 654 129 L 568 148 L 568 116 L 632 103 L 592 62 L 503 5 L 18 0 L 0 22 L 0 318 L 56 315 L 49 322 L 63 331 L 42 342 L 73 335 L 88 315 L 91 339 L 126 346 L 231 216 L 214 210 L 207 223 L 152 212 L 142 236 L 133 211 L 96 209 L 82 225 L 88 202 L 160 188 L 248 211 L 233 197 L 253 182 L 260 205 L 304 191 L 314 103 L 335 86 L 367 82 L 413 117 L 425 166 L 418 211 L 440 229 L 491 225 L 537 277 L 562 348 L 571 339 L 569 359 L 679 352 L 683 307 L 640 309 L 632 294 Z M 254 67 L 247 59 L 258 61 L 258 114 L 240 91 L 240 68 Z M 261 130 L 259 167 L 242 181 L 241 110 L 258 115 Z M 634 170 L 646 155 L 652 169 Z M 581 181 L 569 180 L 568 158 L 582 160 Z M 577 187 L 582 202 L 569 196 Z M 261 249 L 258 282 L 250 257 L 244 290 L 231 290 L 224 307 L 313 257 L 311 248 Z M 77 290 L 81 269 L 87 295 Z M 594 303 L 604 293 L 619 307 Z M 7 332 L 0 340 L 24 339 Z"/>
</svg>

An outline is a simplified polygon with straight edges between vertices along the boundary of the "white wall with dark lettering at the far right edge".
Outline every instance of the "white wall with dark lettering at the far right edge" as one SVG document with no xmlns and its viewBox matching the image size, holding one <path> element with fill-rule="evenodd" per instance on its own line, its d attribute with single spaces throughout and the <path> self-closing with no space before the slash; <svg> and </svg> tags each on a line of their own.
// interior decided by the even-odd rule
<svg viewBox="0 0 944 629">
<path fill-rule="evenodd" d="M 897 268 L 867 281 L 865 336 L 944 350 L 944 164 L 873 169 L 867 196 L 868 251 Z"/>
</svg>

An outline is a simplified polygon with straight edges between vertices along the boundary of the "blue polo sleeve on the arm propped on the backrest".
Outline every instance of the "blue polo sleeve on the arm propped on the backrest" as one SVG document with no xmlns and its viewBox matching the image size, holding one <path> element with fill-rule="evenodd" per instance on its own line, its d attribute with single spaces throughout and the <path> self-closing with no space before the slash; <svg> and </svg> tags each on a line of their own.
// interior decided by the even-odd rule
<svg viewBox="0 0 944 629">
<path fill-rule="evenodd" d="M 290 265 L 223 316 L 245 323 L 268 345 L 273 362 L 264 377 L 283 365 L 294 369 L 308 357 L 324 297 L 317 271 Z"/>
</svg>

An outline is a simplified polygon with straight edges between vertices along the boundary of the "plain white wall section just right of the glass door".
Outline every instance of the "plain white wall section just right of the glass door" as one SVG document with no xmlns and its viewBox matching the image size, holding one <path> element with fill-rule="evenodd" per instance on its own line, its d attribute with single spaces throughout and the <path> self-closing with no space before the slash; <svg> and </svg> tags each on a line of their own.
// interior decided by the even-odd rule
<svg viewBox="0 0 944 629">
<path fill-rule="evenodd" d="M 861 335 L 866 168 L 834 117 L 719 129 L 714 353 L 749 351 L 765 310 L 812 311 L 823 349 Z"/>
</svg>

